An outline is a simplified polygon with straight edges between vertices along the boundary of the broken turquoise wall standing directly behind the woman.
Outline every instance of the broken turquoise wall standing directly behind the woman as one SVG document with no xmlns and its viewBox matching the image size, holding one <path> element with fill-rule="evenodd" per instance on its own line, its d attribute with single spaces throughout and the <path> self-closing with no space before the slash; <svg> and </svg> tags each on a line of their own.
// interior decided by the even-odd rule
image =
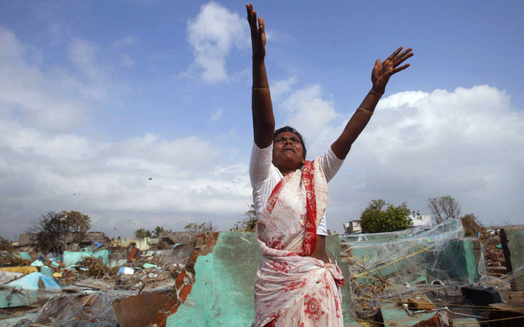
<svg viewBox="0 0 524 327">
<path fill-rule="evenodd" d="M 347 265 L 340 259 L 337 235 L 327 239 L 332 261 L 341 265 L 349 279 Z M 221 232 L 210 254 L 195 264 L 195 284 L 166 326 L 251 326 L 255 320 L 255 276 L 261 255 L 255 233 Z M 343 286 L 344 323 L 354 322 L 349 287 Z"/>
</svg>

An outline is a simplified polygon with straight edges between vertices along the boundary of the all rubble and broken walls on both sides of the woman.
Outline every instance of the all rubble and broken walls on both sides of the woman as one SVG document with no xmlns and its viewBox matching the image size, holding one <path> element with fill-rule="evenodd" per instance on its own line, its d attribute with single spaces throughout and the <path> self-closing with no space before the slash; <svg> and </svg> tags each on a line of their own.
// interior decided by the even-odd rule
<svg viewBox="0 0 524 327">
<path fill-rule="evenodd" d="M 480 237 L 466 237 L 450 220 L 431 229 L 329 236 L 329 256 L 346 283 L 344 323 L 521 326 L 524 229 L 476 232 Z M 3 251 L 0 326 L 250 326 L 255 236 L 178 237 L 140 249 L 98 243 L 32 258 Z"/>
</svg>

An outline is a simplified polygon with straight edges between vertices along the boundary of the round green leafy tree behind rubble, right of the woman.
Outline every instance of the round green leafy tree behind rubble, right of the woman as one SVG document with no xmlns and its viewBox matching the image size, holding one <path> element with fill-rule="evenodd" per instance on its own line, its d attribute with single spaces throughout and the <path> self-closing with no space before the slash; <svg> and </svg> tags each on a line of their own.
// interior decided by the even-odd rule
<svg viewBox="0 0 524 327">
<path fill-rule="evenodd" d="M 384 206 L 386 210 L 382 210 Z M 364 233 L 394 232 L 413 226 L 410 210 L 403 202 L 398 207 L 386 204 L 383 199 L 374 199 L 360 215 L 360 226 Z"/>
</svg>

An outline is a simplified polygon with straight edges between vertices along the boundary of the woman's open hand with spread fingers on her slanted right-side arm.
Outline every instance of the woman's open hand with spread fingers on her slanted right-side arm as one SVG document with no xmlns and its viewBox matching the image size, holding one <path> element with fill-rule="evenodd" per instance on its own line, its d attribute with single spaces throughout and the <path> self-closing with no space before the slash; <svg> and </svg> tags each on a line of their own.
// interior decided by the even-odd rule
<svg viewBox="0 0 524 327">
<path fill-rule="evenodd" d="M 399 71 L 409 67 L 409 63 L 404 66 L 399 65 L 403 63 L 407 58 L 413 56 L 411 48 L 408 48 L 402 53 L 402 47 L 396 49 L 394 53 L 391 53 L 385 61 L 381 62 L 380 59 L 376 59 L 375 66 L 371 72 L 371 82 L 373 83 L 373 90 L 379 93 L 384 93 L 386 90 L 386 84 L 389 81 L 389 78 Z"/>
</svg>

